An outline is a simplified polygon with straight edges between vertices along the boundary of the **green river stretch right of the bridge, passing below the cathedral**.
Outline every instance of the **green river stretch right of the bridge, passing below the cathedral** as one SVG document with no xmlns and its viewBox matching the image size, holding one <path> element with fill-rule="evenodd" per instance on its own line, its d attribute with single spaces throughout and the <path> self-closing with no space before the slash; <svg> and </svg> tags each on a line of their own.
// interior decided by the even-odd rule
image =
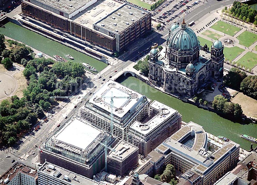
<svg viewBox="0 0 257 185">
<path fill-rule="evenodd" d="M 159 90 L 143 83 L 135 77 L 118 78 L 117 81 L 122 85 L 137 91 L 149 99 L 157 100 L 166 104 L 173 109 L 179 111 L 182 115 L 182 120 L 185 122 L 193 121 L 204 127 L 205 131 L 215 135 L 224 136 L 236 143 L 240 144 L 244 149 L 250 149 L 251 142 L 240 136 L 246 134 L 257 138 L 257 124 L 242 125 L 230 120 L 224 119 L 214 112 L 198 108 L 194 105 L 185 103 L 177 98 L 162 93 Z M 254 145 L 256 147 L 256 144 Z"/>
</svg>

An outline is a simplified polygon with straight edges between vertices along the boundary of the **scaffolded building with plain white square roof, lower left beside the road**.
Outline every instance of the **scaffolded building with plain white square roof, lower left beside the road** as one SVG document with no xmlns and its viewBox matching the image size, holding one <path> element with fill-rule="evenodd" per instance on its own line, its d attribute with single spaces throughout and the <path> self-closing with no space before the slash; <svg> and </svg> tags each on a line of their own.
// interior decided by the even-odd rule
<svg viewBox="0 0 257 185">
<path fill-rule="evenodd" d="M 58 165 L 88 178 L 104 168 L 104 146 L 113 138 L 101 129 L 91 127 L 86 120 L 69 120 L 39 149 L 39 161 Z"/>
</svg>

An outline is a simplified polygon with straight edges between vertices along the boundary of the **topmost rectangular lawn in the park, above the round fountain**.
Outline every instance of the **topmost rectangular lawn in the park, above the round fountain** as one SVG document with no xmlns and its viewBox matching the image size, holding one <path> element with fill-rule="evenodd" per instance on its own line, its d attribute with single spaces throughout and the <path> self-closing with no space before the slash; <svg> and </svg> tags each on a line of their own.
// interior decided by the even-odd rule
<svg viewBox="0 0 257 185">
<path fill-rule="evenodd" d="M 235 35 L 238 31 L 241 30 L 240 28 L 233 26 L 231 24 L 227 24 L 221 20 L 219 20 L 217 23 L 215 23 L 213 26 L 211 26 L 211 28 L 216 29 L 220 32 L 223 32 L 223 33 L 231 35 L 231 36 Z"/>
</svg>

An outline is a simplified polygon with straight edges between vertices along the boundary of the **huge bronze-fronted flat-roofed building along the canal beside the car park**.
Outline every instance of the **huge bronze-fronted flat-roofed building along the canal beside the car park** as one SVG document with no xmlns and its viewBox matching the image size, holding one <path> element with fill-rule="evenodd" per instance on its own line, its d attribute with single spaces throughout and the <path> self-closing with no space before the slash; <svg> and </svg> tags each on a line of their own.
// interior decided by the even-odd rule
<svg viewBox="0 0 257 185">
<path fill-rule="evenodd" d="M 57 29 L 81 44 L 121 52 L 151 29 L 151 13 L 115 0 L 24 0 L 25 26 Z"/>
</svg>

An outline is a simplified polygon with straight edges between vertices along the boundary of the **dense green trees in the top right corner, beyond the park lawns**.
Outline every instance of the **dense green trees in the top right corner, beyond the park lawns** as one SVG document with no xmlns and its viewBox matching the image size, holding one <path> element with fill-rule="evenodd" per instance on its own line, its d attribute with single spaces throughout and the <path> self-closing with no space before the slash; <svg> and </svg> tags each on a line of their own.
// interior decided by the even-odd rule
<svg viewBox="0 0 257 185">
<path fill-rule="evenodd" d="M 257 11 L 245 3 L 234 1 L 231 8 L 227 8 L 225 6 L 225 8 L 222 10 L 222 13 L 224 12 L 245 22 L 254 23 L 257 25 Z"/>
</svg>

